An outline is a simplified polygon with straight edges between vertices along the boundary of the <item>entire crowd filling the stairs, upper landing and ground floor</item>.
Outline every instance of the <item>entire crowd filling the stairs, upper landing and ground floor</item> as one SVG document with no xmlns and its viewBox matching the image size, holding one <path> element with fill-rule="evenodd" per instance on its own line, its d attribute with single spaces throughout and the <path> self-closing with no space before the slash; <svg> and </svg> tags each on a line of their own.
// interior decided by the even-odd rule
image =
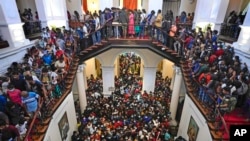
<svg viewBox="0 0 250 141">
<path fill-rule="evenodd" d="M 29 13 L 26 11 L 27 18 Z M 148 32 L 157 41 L 167 44 L 168 35 L 160 29 L 166 33 L 171 30 L 174 23 L 171 11 L 165 16 L 161 10 L 155 13 L 152 10 L 147 14 L 145 9 L 107 8 L 89 14 L 77 29 L 43 28 L 38 45 L 28 50 L 22 62 L 13 62 L 1 76 L 1 139 L 23 138 L 40 99 L 60 98 L 64 86 L 59 82 L 67 74 L 71 55 L 76 51 L 73 35 L 83 39 L 94 33 L 91 34 L 92 43 L 100 44 L 101 38 L 143 38 Z M 184 12 L 180 16 L 183 23 L 192 19 L 193 14 L 186 16 Z M 104 23 L 112 25 L 112 22 L 122 26 L 107 26 L 99 31 Z M 190 77 L 193 84 L 199 84 L 194 87 L 200 101 L 217 107 L 222 114 L 235 107 L 250 114 L 250 105 L 246 105 L 250 73 L 246 63 L 235 55 L 234 48 L 219 42 L 218 31 L 211 28 L 204 33 L 201 29 L 195 31 L 180 26 L 178 31 L 178 38 L 184 43 L 184 58 L 190 62 Z M 175 48 L 174 44 L 169 47 Z M 85 112 L 79 114 L 78 131 L 73 133 L 72 140 L 170 140 L 171 79 L 162 78 L 157 72 L 154 92 L 143 91 L 140 59 L 126 54 L 120 60 L 121 74 L 115 78 L 115 91 L 110 97 L 102 95 L 101 78 L 91 76 L 88 79 L 88 105 Z"/>
</svg>

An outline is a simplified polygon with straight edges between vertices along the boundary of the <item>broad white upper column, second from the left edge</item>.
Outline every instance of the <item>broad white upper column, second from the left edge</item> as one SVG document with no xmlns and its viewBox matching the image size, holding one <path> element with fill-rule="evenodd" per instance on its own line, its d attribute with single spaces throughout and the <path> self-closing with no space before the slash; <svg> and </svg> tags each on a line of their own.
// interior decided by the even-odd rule
<svg viewBox="0 0 250 141">
<path fill-rule="evenodd" d="M 66 1 L 61 0 L 35 0 L 39 20 L 42 27 L 68 28 Z"/>
</svg>

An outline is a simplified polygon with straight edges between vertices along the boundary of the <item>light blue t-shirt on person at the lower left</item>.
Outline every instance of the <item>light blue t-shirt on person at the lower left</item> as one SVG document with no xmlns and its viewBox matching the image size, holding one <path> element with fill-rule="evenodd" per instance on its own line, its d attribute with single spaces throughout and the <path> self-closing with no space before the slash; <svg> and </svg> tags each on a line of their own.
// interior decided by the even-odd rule
<svg viewBox="0 0 250 141">
<path fill-rule="evenodd" d="M 38 98 L 39 95 L 34 92 L 28 92 L 28 97 L 22 97 L 22 103 L 26 105 L 28 112 L 35 112 L 37 110 Z"/>
</svg>

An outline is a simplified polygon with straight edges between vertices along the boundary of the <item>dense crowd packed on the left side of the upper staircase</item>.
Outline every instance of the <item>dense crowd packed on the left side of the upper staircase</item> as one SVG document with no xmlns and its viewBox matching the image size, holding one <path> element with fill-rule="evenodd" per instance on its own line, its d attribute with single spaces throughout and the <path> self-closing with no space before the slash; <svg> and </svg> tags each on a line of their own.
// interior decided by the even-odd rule
<svg viewBox="0 0 250 141">
<path fill-rule="evenodd" d="M 38 44 L 1 74 L 0 140 L 23 139 L 41 100 L 48 104 L 61 97 L 74 42 L 71 31 L 45 27 Z"/>
</svg>

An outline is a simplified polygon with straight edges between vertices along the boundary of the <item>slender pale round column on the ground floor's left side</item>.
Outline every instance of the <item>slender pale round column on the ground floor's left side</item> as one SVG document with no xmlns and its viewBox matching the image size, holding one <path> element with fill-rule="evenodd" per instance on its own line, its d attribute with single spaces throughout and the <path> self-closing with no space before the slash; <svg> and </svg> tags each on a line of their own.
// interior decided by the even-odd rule
<svg viewBox="0 0 250 141">
<path fill-rule="evenodd" d="M 78 88 L 78 94 L 79 94 L 79 102 L 80 102 L 80 108 L 81 112 L 83 113 L 86 106 L 87 106 L 87 98 L 86 98 L 86 87 L 85 86 L 85 65 L 79 65 L 78 70 L 76 73 L 76 81 L 77 81 L 77 88 Z"/>
</svg>

